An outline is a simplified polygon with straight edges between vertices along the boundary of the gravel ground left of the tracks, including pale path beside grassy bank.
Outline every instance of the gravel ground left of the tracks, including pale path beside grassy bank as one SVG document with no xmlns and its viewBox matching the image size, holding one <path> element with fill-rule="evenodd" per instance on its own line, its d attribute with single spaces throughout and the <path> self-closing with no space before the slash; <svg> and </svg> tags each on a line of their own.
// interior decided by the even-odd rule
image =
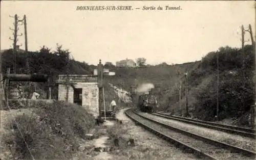
<svg viewBox="0 0 256 160">
<path fill-rule="evenodd" d="M 78 159 L 197 159 L 192 154 L 182 153 L 181 150 L 174 147 L 172 144 L 157 138 L 155 135 L 144 130 L 140 126 L 136 126 L 135 123 L 126 117 L 124 110 L 121 110 L 116 118 L 122 121 L 122 124 L 116 123 L 114 126 L 111 122 L 106 122 L 105 127 L 100 127 L 98 132 L 103 133 L 98 139 L 92 141 L 84 141 L 86 144 L 86 150 L 82 151 L 75 160 Z M 120 122 L 120 121 L 119 121 Z M 107 129 L 110 129 L 106 131 Z M 108 140 L 111 134 L 117 134 L 119 137 L 119 147 L 109 152 L 96 152 L 95 146 L 113 145 L 112 140 Z M 126 140 L 133 138 L 135 146 L 127 146 Z M 106 142 L 104 144 L 104 142 Z M 90 148 L 91 147 L 91 148 Z"/>
</svg>

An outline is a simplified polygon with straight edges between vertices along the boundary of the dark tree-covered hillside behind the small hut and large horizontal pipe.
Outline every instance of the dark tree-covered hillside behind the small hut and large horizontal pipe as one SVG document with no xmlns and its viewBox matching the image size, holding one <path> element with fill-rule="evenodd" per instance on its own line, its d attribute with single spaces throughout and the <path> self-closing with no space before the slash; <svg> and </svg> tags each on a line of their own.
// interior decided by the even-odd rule
<svg viewBox="0 0 256 160">
<path fill-rule="evenodd" d="M 29 73 L 42 73 L 48 74 L 50 79 L 50 85 L 55 86 L 55 80 L 58 78 L 59 74 L 67 74 L 67 58 L 70 57 L 69 50 L 62 49 L 61 45 L 57 45 L 56 51 L 52 51 L 47 47 L 42 47 L 39 51 L 29 51 Z M 8 49 L 3 51 L 3 71 L 6 72 L 7 68 L 11 69 L 11 73 L 13 73 L 13 61 L 14 54 L 12 49 Z M 93 74 L 93 69 L 96 66 L 88 65 L 87 63 L 82 63 L 70 59 L 70 74 Z M 24 52 L 18 52 L 16 54 L 16 73 L 28 73 L 26 71 L 26 55 Z M 16 83 L 12 83 L 11 85 L 15 85 Z M 25 93 L 30 91 L 31 89 L 36 89 L 37 92 L 42 95 L 42 98 L 46 98 L 46 93 L 44 92 L 45 84 L 44 83 L 34 83 L 31 86 L 28 83 L 23 83 L 25 85 Z M 52 88 L 53 98 L 57 98 L 57 86 Z M 29 96 L 29 95 L 27 95 Z"/>
</svg>

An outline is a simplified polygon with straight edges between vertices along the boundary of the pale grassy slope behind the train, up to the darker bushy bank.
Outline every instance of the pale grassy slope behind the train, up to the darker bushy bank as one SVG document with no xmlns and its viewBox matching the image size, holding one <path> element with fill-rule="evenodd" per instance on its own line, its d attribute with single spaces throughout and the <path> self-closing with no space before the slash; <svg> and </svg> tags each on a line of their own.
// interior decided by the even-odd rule
<svg viewBox="0 0 256 160">
<path fill-rule="evenodd" d="M 200 61 L 178 64 L 178 65 L 156 65 L 141 68 L 113 68 L 116 76 L 107 77 L 106 81 L 114 86 L 118 86 L 126 91 L 130 91 L 131 85 L 135 84 L 139 87 L 142 84 L 151 83 L 153 85 L 160 85 L 161 95 L 160 104 L 164 109 L 175 102 L 175 88 L 178 85 L 179 77 L 184 77 L 187 69 L 190 72 L 196 69 Z M 178 77 L 178 71 L 180 75 Z"/>
</svg>

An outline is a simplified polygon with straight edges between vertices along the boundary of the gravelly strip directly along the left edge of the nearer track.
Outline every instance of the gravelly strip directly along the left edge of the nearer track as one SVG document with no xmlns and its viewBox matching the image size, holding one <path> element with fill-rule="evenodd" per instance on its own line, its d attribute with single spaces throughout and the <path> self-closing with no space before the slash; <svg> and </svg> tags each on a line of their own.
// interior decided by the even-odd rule
<svg viewBox="0 0 256 160">
<path fill-rule="evenodd" d="M 197 159 L 193 154 L 183 153 L 172 144 L 135 125 L 126 117 L 125 110 L 127 109 L 120 110 L 116 118 L 122 121 L 122 129 L 127 130 L 124 137 L 135 140 L 134 147 L 121 151 L 126 155 L 125 159 Z M 118 153 L 118 155 L 122 154 Z"/>
</svg>

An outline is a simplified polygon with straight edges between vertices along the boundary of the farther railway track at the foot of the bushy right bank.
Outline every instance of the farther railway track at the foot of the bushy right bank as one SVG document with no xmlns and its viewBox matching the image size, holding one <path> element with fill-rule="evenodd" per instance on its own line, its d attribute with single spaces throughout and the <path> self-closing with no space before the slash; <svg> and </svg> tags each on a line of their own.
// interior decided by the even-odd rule
<svg viewBox="0 0 256 160">
<path fill-rule="evenodd" d="M 244 137 L 250 137 L 254 138 L 256 137 L 255 130 L 250 129 L 250 128 L 242 128 L 242 127 L 237 127 L 237 126 L 232 126 L 232 125 L 225 125 L 225 124 L 220 124 L 220 123 L 215 123 L 215 122 L 207 122 L 207 121 L 202 121 L 202 120 L 196 120 L 196 119 L 191 119 L 191 118 L 186 118 L 186 117 L 179 117 L 179 116 L 171 116 L 171 115 L 165 115 L 161 113 L 153 113 L 153 115 L 164 117 L 167 119 L 172 119 L 172 120 L 177 120 L 180 122 L 185 122 L 189 124 L 194 124 L 198 126 L 203 126 L 211 129 L 216 129 L 224 132 L 228 132 L 230 134 L 235 134 L 235 135 L 241 135 Z"/>
</svg>

